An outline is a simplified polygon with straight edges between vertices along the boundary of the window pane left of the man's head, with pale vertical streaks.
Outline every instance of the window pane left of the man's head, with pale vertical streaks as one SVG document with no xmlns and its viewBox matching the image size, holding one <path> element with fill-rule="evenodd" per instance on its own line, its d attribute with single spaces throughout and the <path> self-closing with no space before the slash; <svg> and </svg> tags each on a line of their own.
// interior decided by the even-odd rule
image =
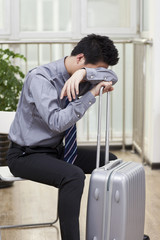
<svg viewBox="0 0 160 240">
<path fill-rule="evenodd" d="M 20 0 L 20 32 L 72 31 L 72 0 Z"/>
</svg>

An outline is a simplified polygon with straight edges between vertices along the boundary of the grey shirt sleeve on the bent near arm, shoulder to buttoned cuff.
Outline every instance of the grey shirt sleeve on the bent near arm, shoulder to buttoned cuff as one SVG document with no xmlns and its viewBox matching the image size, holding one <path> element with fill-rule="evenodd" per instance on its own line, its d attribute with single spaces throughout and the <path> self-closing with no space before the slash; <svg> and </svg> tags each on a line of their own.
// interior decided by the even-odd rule
<svg viewBox="0 0 160 240">
<path fill-rule="evenodd" d="M 96 101 L 91 92 L 65 107 L 65 98 L 60 100 L 56 87 L 45 76 L 35 74 L 30 81 L 30 93 L 35 106 L 33 111 L 43 119 L 51 131 L 60 133 L 82 118 Z"/>
</svg>

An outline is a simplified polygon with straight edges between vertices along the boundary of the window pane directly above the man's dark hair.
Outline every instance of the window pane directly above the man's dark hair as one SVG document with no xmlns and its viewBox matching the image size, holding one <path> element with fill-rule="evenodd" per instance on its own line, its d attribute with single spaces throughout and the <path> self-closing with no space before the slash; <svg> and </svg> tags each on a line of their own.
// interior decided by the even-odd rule
<svg viewBox="0 0 160 240">
<path fill-rule="evenodd" d="M 82 32 L 136 34 L 135 0 L 82 0 Z"/>
</svg>

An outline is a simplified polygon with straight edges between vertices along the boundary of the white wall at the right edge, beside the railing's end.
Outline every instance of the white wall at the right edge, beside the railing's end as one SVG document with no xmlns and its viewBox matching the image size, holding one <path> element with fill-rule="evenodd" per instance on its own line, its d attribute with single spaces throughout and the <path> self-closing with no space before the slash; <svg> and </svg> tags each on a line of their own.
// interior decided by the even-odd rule
<svg viewBox="0 0 160 240">
<path fill-rule="evenodd" d="M 151 71 L 147 71 L 147 91 L 150 99 L 148 101 L 146 99 L 146 109 L 149 109 L 146 114 L 149 129 L 146 129 L 146 132 L 148 132 L 147 155 L 149 161 L 154 164 L 160 163 L 160 1 L 150 0 L 149 11 L 148 37 L 153 39 L 153 46 L 147 52 L 146 68 Z"/>
</svg>

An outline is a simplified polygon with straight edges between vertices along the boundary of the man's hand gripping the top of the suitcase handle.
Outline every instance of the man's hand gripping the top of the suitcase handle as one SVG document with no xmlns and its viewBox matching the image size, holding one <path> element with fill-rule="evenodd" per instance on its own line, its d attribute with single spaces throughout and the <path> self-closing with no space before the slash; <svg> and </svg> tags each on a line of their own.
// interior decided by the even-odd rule
<svg viewBox="0 0 160 240">
<path fill-rule="evenodd" d="M 98 83 L 95 87 L 93 87 L 90 92 L 93 94 L 93 96 L 98 96 L 101 87 L 104 87 L 103 89 L 103 93 L 105 92 L 110 92 L 113 91 L 113 87 L 112 87 L 112 82 L 106 82 L 106 81 L 102 81 L 100 83 Z"/>
</svg>

